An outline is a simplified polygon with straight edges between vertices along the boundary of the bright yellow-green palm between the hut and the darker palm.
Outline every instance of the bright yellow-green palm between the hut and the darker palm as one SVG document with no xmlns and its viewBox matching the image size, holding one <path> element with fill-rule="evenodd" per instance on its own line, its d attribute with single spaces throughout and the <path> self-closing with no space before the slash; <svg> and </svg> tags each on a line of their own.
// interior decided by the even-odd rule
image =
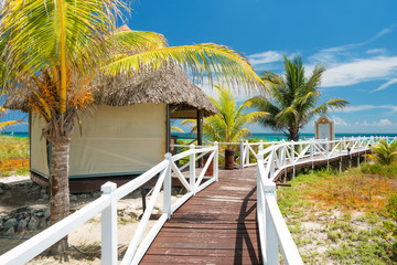
<svg viewBox="0 0 397 265">
<path fill-rule="evenodd" d="M 246 108 L 250 106 L 250 100 L 244 102 L 238 108 L 232 91 L 225 86 L 215 86 L 217 92 L 217 99 L 210 97 L 218 113 L 205 118 L 203 121 L 203 134 L 205 138 L 218 142 L 237 142 L 244 139 L 245 136 L 250 135 L 247 128 L 249 123 L 266 118 L 265 112 L 245 113 Z M 196 131 L 195 119 L 185 119 L 182 124 L 190 124 L 193 126 L 192 131 Z M 227 148 L 230 148 L 229 146 Z"/>
</svg>

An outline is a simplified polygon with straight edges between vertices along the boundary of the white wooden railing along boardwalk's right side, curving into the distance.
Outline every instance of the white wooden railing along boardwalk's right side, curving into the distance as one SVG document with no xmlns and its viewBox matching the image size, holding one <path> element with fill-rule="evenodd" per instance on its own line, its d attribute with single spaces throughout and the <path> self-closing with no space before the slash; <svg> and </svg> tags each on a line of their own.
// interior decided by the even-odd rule
<svg viewBox="0 0 397 265">
<path fill-rule="evenodd" d="M 287 168 L 315 161 L 329 162 L 337 157 L 365 153 L 378 140 L 396 139 L 379 137 L 343 138 L 339 140 L 301 140 L 259 145 L 257 159 L 257 219 L 265 264 L 279 264 L 279 248 L 286 264 L 303 264 L 288 226 L 277 205 L 275 179 Z M 265 158 L 266 157 L 266 158 Z M 357 156 L 360 165 L 360 156 Z"/>
</svg>

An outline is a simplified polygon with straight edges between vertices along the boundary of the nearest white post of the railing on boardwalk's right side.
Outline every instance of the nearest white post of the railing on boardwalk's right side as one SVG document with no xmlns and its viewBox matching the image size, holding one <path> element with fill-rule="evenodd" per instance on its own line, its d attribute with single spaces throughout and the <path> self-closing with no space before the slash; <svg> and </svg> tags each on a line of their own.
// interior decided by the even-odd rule
<svg viewBox="0 0 397 265">
<path fill-rule="evenodd" d="M 266 213 L 266 262 L 267 264 L 279 264 L 278 240 L 275 225 L 267 205 L 267 199 L 276 200 L 276 183 L 272 180 L 265 182 L 265 213 Z"/>
</svg>

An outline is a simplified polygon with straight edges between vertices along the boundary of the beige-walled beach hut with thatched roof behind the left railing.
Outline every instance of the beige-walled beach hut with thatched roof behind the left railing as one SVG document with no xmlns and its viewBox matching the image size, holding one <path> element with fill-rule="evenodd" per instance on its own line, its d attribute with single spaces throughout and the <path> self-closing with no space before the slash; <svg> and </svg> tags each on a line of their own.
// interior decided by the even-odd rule
<svg viewBox="0 0 397 265">
<path fill-rule="evenodd" d="M 74 192 L 98 190 L 105 181 L 119 184 L 164 159 L 170 151 L 170 120 L 216 113 L 205 93 L 176 66 L 133 77 L 103 81 L 94 93 L 95 106 L 81 117 L 72 134 L 69 179 Z M 11 94 L 4 106 L 29 112 L 21 93 Z M 46 184 L 50 178 L 51 144 L 42 138 L 44 121 L 30 120 L 30 170 L 32 180 Z M 201 142 L 201 134 L 198 134 Z"/>
</svg>

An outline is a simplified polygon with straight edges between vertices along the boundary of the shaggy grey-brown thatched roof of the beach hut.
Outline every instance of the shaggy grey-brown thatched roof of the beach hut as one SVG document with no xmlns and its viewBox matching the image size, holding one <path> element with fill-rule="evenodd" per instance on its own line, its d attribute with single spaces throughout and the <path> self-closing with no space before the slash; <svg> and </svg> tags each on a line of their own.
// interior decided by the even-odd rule
<svg viewBox="0 0 397 265">
<path fill-rule="evenodd" d="M 29 110 L 25 93 L 13 93 L 4 102 L 10 109 Z M 155 72 L 136 74 L 131 77 L 117 76 L 101 80 L 94 92 L 96 105 L 130 106 L 136 104 L 169 104 L 215 114 L 216 107 L 187 75 L 176 66 L 167 66 Z"/>
</svg>

